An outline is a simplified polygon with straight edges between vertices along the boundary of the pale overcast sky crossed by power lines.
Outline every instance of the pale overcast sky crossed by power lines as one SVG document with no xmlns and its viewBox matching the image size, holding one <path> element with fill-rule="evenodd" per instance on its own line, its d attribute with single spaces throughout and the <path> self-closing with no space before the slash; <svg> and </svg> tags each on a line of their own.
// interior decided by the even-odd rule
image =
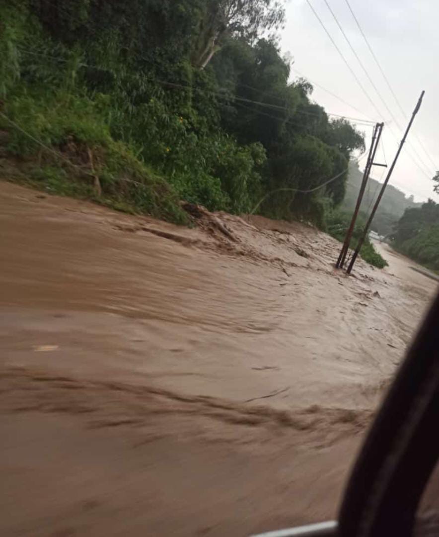
<svg viewBox="0 0 439 537">
<path fill-rule="evenodd" d="M 349 11 L 346 0 L 326 1 L 338 18 L 398 125 L 405 130 L 407 119 L 399 110 L 395 98 L 393 98 L 374 62 Z M 403 190 L 407 195 L 413 194 L 415 201 L 425 201 L 430 197 L 439 202 L 439 196 L 433 193 L 434 183 L 430 179 L 435 171 L 439 170 L 439 146 L 437 143 L 439 132 L 439 72 L 437 70 L 439 1 L 348 1 L 407 118 L 410 118 L 421 90 L 426 91 L 421 109 L 407 139 L 408 143 L 401 153 L 390 183 Z M 315 85 L 312 98 L 324 106 L 326 111 L 354 118 L 384 121 L 386 125 L 383 131 L 383 146 L 386 160 L 390 164 L 397 150 L 395 137 L 399 143 L 402 137 L 401 130 L 368 81 L 340 28 L 334 21 L 328 6 L 326 6 L 325 0 L 309 0 L 309 2 L 328 28 L 332 38 L 355 71 L 380 114 L 378 115 L 376 108 L 364 95 L 352 73 L 346 67 L 312 12 L 307 0 L 287 0 L 287 21 L 285 30 L 281 33 L 280 45 L 282 52 L 289 53 L 293 57 L 292 75 L 299 76 L 296 72 L 299 71 L 311 83 L 314 82 L 322 86 L 354 107 L 342 103 Z M 366 141 L 369 144 L 371 127 L 359 126 L 359 128 L 366 133 Z M 421 140 L 430 158 L 426 155 L 418 139 Z M 376 160 L 382 161 L 383 158 L 382 148 L 380 148 Z M 365 159 L 362 161 L 363 165 L 364 161 Z M 418 165 L 413 161 L 417 162 Z M 375 168 L 372 173 L 373 177 L 380 179 L 383 170 L 383 168 Z"/>
</svg>

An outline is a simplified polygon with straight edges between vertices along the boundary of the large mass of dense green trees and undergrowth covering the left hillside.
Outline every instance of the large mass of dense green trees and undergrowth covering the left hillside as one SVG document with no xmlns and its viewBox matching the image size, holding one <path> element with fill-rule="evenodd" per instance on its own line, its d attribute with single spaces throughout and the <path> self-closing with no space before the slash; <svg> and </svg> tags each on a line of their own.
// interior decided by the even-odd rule
<svg viewBox="0 0 439 537">
<path fill-rule="evenodd" d="M 363 137 L 289 82 L 267 37 L 283 20 L 276 0 L 0 0 L 6 151 L 34 184 L 125 211 L 184 223 L 180 199 L 266 196 L 259 212 L 325 228 Z"/>
</svg>

